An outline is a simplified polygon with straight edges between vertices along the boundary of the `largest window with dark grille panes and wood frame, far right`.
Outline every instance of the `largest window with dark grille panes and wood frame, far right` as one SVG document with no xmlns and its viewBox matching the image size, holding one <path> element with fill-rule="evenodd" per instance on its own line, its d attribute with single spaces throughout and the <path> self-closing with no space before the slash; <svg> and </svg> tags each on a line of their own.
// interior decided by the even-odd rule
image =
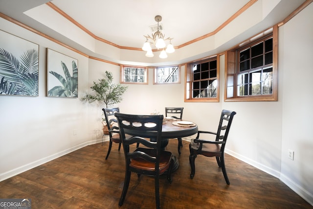
<svg viewBox="0 0 313 209">
<path fill-rule="evenodd" d="M 277 101 L 277 34 L 262 34 L 226 52 L 225 101 Z"/>
</svg>

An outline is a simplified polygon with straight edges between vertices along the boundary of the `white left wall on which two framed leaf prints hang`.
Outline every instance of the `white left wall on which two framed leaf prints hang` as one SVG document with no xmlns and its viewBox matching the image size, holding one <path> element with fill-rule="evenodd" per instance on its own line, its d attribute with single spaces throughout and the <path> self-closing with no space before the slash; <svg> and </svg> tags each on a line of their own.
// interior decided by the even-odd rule
<svg viewBox="0 0 313 209">
<path fill-rule="evenodd" d="M 1 30 L 39 45 L 39 96 L 0 95 L 0 181 L 85 146 L 88 109 L 78 98 L 46 97 L 46 48 L 78 60 L 78 90 L 88 88 L 88 58 L 0 19 Z M 73 135 L 73 131 L 77 135 Z"/>
</svg>

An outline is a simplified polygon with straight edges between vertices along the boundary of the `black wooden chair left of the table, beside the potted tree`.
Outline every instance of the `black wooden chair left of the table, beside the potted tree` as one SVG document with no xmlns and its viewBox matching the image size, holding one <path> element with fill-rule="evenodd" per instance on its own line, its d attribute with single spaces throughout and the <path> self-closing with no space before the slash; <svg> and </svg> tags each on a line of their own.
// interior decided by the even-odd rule
<svg viewBox="0 0 313 209">
<path fill-rule="evenodd" d="M 119 137 L 119 128 L 117 126 L 114 126 L 113 124 L 117 124 L 117 120 L 114 116 L 114 113 L 119 113 L 119 108 L 103 108 L 102 109 L 104 116 L 106 118 L 106 123 L 108 126 L 108 131 L 109 131 L 109 149 L 108 153 L 106 156 L 106 160 L 108 159 L 111 148 L 112 148 L 112 143 L 118 143 L 118 151 L 121 149 L 121 140 Z"/>
</svg>

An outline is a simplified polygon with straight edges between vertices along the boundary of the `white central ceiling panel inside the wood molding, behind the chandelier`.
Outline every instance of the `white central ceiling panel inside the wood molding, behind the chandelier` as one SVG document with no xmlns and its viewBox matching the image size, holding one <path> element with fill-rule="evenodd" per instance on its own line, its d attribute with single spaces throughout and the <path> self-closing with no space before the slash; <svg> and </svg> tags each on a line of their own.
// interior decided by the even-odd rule
<svg viewBox="0 0 313 209">
<path fill-rule="evenodd" d="M 214 31 L 249 0 L 52 0 L 94 35 L 119 46 L 141 48 L 143 35 L 162 16 L 175 46 Z"/>
</svg>

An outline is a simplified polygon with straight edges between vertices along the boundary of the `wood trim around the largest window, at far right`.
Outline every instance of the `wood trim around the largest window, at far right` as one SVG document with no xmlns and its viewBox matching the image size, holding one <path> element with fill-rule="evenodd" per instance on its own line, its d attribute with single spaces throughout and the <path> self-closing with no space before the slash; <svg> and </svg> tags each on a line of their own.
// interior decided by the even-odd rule
<svg viewBox="0 0 313 209">
<path fill-rule="evenodd" d="M 226 51 L 225 53 L 225 88 L 224 88 L 224 101 L 225 102 L 249 102 L 249 101 L 277 101 L 278 100 L 278 26 L 274 25 L 272 28 L 273 36 L 273 71 L 272 71 L 272 93 L 268 95 L 248 95 L 238 96 L 237 95 L 237 61 L 236 61 L 236 50 L 240 45 Z M 253 37 L 249 40 L 253 40 Z M 249 45 L 251 41 L 245 41 L 245 45 Z M 229 88 L 232 88 L 231 92 Z M 227 96 L 227 93 L 232 96 Z"/>
</svg>

